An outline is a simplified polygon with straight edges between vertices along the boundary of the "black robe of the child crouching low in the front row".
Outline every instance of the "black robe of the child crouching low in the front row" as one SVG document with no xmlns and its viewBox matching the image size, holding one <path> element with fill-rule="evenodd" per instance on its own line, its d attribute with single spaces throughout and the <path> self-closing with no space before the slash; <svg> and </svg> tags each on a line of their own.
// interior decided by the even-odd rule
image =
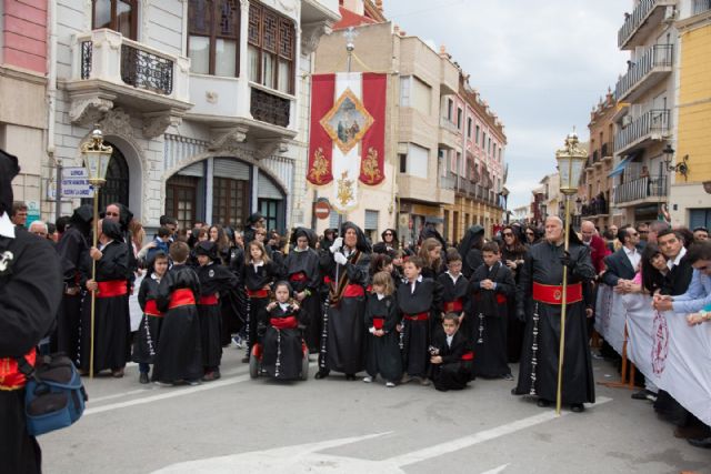
<svg viewBox="0 0 711 474">
<path fill-rule="evenodd" d="M 462 355 L 469 346 L 467 337 L 457 331 L 452 344 L 448 345 L 447 334 L 440 331 L 432 336 L 431 346 L 437 350 L 437 355 L 442 357 L 441 364 L 432 364 L 434 389 L 442 392 L 464 389 L 471 377 L 470 363 L 462 361 Z"/>
</svg>

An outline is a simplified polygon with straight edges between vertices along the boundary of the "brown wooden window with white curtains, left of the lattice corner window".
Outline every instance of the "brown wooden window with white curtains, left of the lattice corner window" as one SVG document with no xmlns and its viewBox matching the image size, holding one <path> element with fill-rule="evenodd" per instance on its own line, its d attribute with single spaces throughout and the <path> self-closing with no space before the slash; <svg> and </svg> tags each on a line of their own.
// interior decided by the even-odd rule
<svg viewBox="0 0 711 474">
<path fill-rule="evenodd" d="M 188 10 L 190 69 L 201 74 L 237 77 L 240 7 L 234 0 L 190 0 Z"/>
</svg>

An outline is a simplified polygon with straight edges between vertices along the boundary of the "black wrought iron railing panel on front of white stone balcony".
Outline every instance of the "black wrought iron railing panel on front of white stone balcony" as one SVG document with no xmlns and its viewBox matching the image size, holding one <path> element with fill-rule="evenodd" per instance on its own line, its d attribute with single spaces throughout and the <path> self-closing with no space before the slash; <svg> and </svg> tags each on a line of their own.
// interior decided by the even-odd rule
<svg viewBox="0 0 711 474">
<path fill-rule="evenodd" d="M 121 44 L 121 80 L 137 89 L 170 95 L 173 92 L 173 61 L 152 52 Z"/>
</svg>

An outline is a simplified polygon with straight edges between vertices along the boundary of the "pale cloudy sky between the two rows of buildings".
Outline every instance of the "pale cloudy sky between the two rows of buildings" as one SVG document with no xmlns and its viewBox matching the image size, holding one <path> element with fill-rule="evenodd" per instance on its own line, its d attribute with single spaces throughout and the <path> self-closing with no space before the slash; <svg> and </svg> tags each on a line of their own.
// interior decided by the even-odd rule
<svg viewBox="0 0 711 474">
<path fill-rule="evenodd" d="M 555 171 L 555 149 L 627 69 L 617 32 L 632 1 L 384 0 L 408 34 L 448 52 L 505 125 L 509 209 Z"/>
</svg>

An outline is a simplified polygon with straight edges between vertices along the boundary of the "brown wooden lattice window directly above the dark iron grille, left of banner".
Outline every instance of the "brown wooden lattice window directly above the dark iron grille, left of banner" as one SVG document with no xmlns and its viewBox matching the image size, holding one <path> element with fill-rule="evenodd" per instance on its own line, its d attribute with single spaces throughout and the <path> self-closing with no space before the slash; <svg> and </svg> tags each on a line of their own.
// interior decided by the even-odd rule
<svg viewBox="0 0 711 474">
<path fill-rule="evenodd" d="M 291 20 L 250 1 L 248 75 L 252 82 L 293 93 L 296 31 Z"/>
</svg>

